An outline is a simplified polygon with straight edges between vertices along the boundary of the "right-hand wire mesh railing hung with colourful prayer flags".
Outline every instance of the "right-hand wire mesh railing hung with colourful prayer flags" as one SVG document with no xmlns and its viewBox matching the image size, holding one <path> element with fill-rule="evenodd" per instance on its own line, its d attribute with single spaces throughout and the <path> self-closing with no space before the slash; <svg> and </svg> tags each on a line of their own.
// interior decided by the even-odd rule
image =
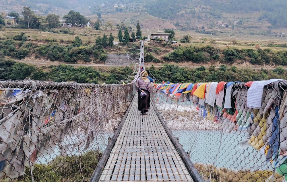
<svg viewBox="0 0 287 182">
<path fill-rule="evenodd" d="M 153 84 L 151 99 L 210 181 L 287 181 L 287 81 Z"/>
</svg>

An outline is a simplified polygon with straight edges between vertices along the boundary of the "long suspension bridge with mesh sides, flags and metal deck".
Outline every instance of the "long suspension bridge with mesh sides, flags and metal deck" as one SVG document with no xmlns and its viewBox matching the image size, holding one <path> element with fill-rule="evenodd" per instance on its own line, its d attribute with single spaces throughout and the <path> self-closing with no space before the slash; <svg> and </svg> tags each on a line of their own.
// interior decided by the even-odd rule
<svg viewBox="0 0 287 182">
<path fill-rule="evenodd" d="M 141 115 L 135 82 L 1 80 L 0 181 L 286 181 L 286 91 L 152 84 Z"/>
</svg>

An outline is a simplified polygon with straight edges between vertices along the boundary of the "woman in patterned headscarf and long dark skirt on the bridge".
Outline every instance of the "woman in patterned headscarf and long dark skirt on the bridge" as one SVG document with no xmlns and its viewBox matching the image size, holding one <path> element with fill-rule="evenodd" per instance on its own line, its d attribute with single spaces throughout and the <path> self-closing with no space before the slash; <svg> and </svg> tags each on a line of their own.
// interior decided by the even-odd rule
<svg viewBox="0 0 287 182">
<path fill-rule="evenodd" d="M 140 73 L 140 77 L 137 79 L 136 83 L 137 87 L 137 108 L 141 111 L 141 114 L 146 115 L 150 104 L 149 104 L 149 97 L 150 97 L 150 79 L 148 79 L 148 72 L 146 70 Z M 146 92 L 146 96 L 141 97 L 141 92 Z"/>
</svg>

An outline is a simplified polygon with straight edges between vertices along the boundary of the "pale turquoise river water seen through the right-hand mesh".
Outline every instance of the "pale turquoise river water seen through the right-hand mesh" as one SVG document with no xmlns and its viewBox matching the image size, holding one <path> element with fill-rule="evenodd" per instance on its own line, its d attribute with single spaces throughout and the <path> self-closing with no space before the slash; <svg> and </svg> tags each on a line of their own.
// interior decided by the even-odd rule
<svg viewBox="0 0 287 182">
<path fill-rule="evenodd" d="M 193 163 L 214 164 L 231 170 L 272 170 L 271 163 L 252 146 L 239 148 L 245 138 L 243 131 L 224 133 L 217 130 L 172 130 L 175 137 L 190 152 Z M 245 131 L 246 132 L 246 131 Z"/>
</svg>

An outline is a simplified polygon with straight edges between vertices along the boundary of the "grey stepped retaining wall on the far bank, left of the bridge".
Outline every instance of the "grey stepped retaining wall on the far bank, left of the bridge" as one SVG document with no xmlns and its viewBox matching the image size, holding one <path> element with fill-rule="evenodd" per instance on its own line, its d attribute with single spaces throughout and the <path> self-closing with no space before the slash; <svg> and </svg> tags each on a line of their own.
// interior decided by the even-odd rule
<svg viewBox="0 0 287 182">
<path fill-rule="evenodd" d="M 131 57 L 128 57 L 125 54 L 108 54 L 106 59 L 106 65 L 132 65 L 134 63 L 139 63 L 139 54 L 129 54 Z"/>
</svg>

